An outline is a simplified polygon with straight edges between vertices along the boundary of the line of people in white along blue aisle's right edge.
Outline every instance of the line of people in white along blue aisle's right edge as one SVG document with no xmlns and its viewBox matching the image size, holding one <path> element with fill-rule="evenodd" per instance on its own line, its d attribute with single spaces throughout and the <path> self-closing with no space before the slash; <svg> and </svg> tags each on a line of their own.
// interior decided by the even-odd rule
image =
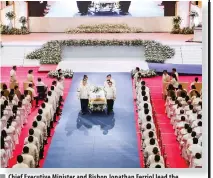
<svg viewBox="0 0 213 178">
<path fill-rule="evenodd" d="M 145 167 L 165 168 L 164 158 L 158 144 L 156 128 L 153 121 L 149 88 L 145 81 L 137 78 L 135 84 L 137 94 L 138 124 L 142 135 L 141 149 L 144 153 Z"/>
</svg>

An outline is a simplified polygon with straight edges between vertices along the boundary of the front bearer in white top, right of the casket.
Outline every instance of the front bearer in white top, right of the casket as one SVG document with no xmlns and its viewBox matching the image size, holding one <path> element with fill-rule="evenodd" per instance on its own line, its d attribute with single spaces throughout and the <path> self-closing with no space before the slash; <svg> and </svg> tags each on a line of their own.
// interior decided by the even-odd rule
<svg viewBox="0 0 213 178">
<path fill-rule="evenodd" d="M 113 83 L 108 82 L 108 87 L 105 88 L 107 99 L 107 114 L 113 111 L 114 101 L 116 99 L 116 88 L 113 87 Z"/>
</svg>

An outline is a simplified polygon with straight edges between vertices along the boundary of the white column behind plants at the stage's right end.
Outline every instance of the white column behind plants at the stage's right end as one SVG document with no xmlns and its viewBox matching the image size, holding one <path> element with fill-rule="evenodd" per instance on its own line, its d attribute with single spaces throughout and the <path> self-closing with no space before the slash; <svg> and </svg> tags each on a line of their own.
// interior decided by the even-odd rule
<svg viewBox="0 0 213 178">
<path fill-rule="evenodd" d="M 178 1 L 177 6 L 177 15 L 182 19 L 180 27 L 189 27 L 190 1 Z"/>
</svg>

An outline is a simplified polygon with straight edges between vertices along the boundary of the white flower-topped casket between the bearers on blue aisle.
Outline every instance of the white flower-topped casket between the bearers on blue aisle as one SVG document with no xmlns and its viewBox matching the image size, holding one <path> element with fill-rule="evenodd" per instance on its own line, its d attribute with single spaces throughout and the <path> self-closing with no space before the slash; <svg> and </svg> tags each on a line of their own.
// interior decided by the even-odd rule
<svg viewBox="0 0 213 178">
<path fill-rule="evenodd" d="M 103 87 L 91 87 L 89 109 L 91 111 L 104 111 L 106 105 L 107 102 Z"/>
</svg>

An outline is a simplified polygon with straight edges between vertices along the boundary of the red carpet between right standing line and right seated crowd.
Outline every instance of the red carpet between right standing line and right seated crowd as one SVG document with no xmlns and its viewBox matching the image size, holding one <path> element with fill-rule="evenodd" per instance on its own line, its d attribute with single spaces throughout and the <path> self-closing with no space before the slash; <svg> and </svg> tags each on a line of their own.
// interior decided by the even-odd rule
<svg viewBox="0 0 213 178">
<path fill-rule="evenodd" d="M 195 76 L 180 76 L 181 82 L 193 82 Z M 202 80 L 202 77 L 198 77 Z M 186 161 L 181 157 L 179 143 L 170 120 L 165 114 L 165 101 L 162 98 L 162 77 L 146 78 L 147 86 L 150 88 L 152 103 L 156 111 L 157 122 L 161 131 L 162 144 L 165 145 L 165 153 L 167 154 L 167 164 L 170 168 L 187 168 Z"/>
</svg>

